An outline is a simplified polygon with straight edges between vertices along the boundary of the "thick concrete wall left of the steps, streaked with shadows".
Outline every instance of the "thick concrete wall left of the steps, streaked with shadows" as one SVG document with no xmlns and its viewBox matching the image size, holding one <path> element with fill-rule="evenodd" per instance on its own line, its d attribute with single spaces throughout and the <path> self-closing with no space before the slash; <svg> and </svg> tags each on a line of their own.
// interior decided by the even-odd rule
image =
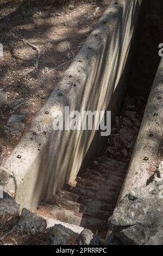
<svg viewBox="0 0 163 256">
<path fill-rule="evenodd" d="M 136 0 L 112 1 L 27 134 L 4 163 L 3 168 L 12 173 L 5 189 L 16 195 L 22 207 L 35 210 L 42 199 L 74 180 L 90 145 L 95 152 L 93 145 L 101 141 L 98 132 L 54 131 L 54 113 L 64 112 L 65 106 L 70 106 L 70 111 L 101 111 L 109 105 L 114 119 L 125 94 L 138 13 Z"/>
</svg>

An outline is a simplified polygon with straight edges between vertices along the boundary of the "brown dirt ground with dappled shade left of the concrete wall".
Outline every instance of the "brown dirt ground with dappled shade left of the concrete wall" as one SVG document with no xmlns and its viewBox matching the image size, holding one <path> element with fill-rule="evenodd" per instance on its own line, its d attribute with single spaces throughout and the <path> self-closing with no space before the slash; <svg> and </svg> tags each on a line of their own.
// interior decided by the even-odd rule
<svg viewBox="0 0 163 256">
<path fill-rule="evenodd" d="M 29 128 L 110 0 L 74 2 L 66 7 L 58 7 L 52 1 L 51 5 L 25 8 L 18 1 L 0 1 L 0 43 L 4 50 L 4 56 L 0 57 L 0 88 L 7 93 L 7 103 L 0 109 L 3 162 Z M 41 50 L 39 75 L 36 71 L 25 75 L 33 68 L 37 52 L 23 41 L 15 40 L 11 33 Z M 26 105 L 13 111 L 8 103 L 19 98 L 23 98 Z M 21 134 L 11 135 L 5 128 L 8 119 L 12 114 L 20 115 L 24 109 L 26 127 Z"/>
</svg>

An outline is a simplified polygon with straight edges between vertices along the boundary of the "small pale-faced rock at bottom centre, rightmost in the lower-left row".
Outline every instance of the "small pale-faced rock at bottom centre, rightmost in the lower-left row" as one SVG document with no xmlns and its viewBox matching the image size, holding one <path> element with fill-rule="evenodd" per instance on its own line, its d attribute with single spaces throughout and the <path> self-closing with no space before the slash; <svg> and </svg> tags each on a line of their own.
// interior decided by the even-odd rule
<svg viewBox="0 0 163 256">
<path fill-rule="evenodd" d="M 100 245 L 98 238 L 89 229 L 84 229 L 77 240 L 79 245 Z"/>
</svg>

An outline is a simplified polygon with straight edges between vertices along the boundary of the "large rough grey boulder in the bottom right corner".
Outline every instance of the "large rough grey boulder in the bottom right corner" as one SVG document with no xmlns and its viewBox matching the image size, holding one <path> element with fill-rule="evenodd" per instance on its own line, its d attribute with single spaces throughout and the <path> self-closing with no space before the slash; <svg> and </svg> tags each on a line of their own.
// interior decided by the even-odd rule
<svg viewBox="0 0 163 256">
<path fill-rule="evenodd" d="M 163 245 L 163 180 L 124 197 L 109 218 L 109 228 L 123 245 Z"/>
</svg>

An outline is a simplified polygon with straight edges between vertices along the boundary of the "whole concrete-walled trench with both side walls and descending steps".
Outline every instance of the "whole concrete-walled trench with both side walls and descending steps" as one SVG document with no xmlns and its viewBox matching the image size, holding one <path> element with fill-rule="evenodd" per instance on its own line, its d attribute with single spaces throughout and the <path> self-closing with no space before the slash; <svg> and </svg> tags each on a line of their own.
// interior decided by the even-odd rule
<svg viewBox="0 0 163 256">
<path fill-rule="evenodd" d="M 105 239 L 118 198 L 138 185 L 145 186 L 150 177 L 142 170 L 149 169 L 162 136 L 162 60 L 145 115 L 141 112 L 139 116 L 143 120 L 134 135 L 132 156 L 131 152 L 123 157 L 110 152 L 112 144 L 109 146 L 100 130 L 52 129 L 53 112 L 64 111 L 65 106 L 78 111 L 111 110 L 115 123 L 127 92 L 138 2 L 111 2 L 27 134 L 0 167 L 4 190 L 21 208 L 45 218 L 48 227 L 62 224 L 77 233 L 89 228 Z M 159 115 L 154 115 L 158 111 Z M 123 129 L 123 124 L 112 125 L 113 130 L 117 127 Z M 149 136 L 151 133 L 156 136 Z M 146 162 L 144 152 L 148 154 Z"/>
</svg>

